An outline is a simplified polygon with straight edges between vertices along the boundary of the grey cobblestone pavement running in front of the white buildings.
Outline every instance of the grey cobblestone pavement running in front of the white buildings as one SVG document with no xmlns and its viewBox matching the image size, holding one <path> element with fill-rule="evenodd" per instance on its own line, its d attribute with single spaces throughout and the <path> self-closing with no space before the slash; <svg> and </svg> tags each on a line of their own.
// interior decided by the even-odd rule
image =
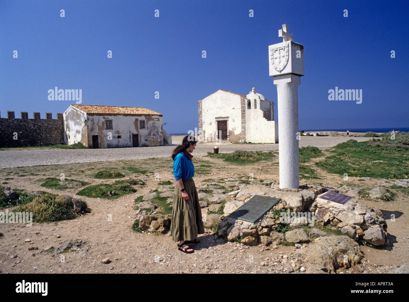
<svg viewBox="0 0 409 302">
<path fill-rule="evenodd" d="M 301 137 L 299 146 L 317 146 L 327 148 L 346 142 L 353 138 L 358 142 L 370 140 L 370 137 L 341 136 L 306 136 Z M 171 146 L 114 148 L 114 149 L 27 149 L 0 151 L 0 168 L 27 167 L 37 165 L 58 165 L 75 162 L 101 162 L 111 160 L 129 160 L 139 158 L 171 156 L 173 149 L 181 143 L 181 137 L 173 139 Z M 219 147 L 219 153 L 230 153 L 235 150 L 267 151 L 278 150 L 279 144 L 214 144 L 198 143 L 193 155 L 206 154 L 213 151 L 213 146 Z"/>
</svg>

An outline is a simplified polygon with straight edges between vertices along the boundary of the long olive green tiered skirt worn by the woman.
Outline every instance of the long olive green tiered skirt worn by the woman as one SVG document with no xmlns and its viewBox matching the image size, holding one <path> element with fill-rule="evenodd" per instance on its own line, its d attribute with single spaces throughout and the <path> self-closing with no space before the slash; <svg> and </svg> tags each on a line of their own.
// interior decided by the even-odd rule
<svg viewBox="0 0 409 302">
<path fill-rule="evenodd" d="M 172 239 L 175 242 L 181 240 L 194 240 L 198 234 L 205 233 L 200 210 L 198 191 L 196 190 L 193 177 L 182 180 L 188 200 L 182 198 L 182 192 L 178 184 L 173 191 L 173 210 L 171 222 Z"/>
</svg>

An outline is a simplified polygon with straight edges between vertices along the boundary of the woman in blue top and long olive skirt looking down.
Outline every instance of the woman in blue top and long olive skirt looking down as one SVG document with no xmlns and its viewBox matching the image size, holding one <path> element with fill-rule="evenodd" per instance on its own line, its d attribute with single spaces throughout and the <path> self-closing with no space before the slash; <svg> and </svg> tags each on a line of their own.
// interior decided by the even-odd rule
<svg viewBox="0 0 409 302">
<path fill-rule="evenodd" d="M 194 252 L 193 248 L 186 243 L 199 243 L 196 237 L 205 232 L 198 192 L 193 181 L 195 174 L 195 167 L 191 160 L 193 155 L 190 154 L 196 144 L 196 137 L 186 135 L 183 137 L 182 144 L 172 153 L 176 185 L 173 192 L 171 234 L 173 241 L 179 241 L 178 250 L 185 253 Z"/>
</svg>

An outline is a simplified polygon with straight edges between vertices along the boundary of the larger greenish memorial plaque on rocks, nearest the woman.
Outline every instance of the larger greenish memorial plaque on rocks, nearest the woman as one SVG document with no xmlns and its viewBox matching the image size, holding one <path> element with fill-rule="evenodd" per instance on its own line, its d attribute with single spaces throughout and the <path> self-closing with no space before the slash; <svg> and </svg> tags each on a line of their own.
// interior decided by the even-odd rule
<svg viewBox="0 0 409 302">
<path fill-rule="evenodd" d="M 279 201 L 280 198 L 255 195 L 228 217 L 254 223 Z"/>
</svg>

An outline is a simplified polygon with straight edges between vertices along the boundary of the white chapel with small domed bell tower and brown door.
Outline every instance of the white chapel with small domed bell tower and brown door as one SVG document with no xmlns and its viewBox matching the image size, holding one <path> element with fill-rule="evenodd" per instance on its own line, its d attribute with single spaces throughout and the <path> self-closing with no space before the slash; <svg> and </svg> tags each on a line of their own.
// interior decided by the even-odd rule
<svg viewBox="0 0 409 302">
<path fill-rule="evenodd" d="M 248 95 L 219 89 L 197 103 L 199 141 L 278 143 L 274 103 L 254 87 Z"/>
</svg>

